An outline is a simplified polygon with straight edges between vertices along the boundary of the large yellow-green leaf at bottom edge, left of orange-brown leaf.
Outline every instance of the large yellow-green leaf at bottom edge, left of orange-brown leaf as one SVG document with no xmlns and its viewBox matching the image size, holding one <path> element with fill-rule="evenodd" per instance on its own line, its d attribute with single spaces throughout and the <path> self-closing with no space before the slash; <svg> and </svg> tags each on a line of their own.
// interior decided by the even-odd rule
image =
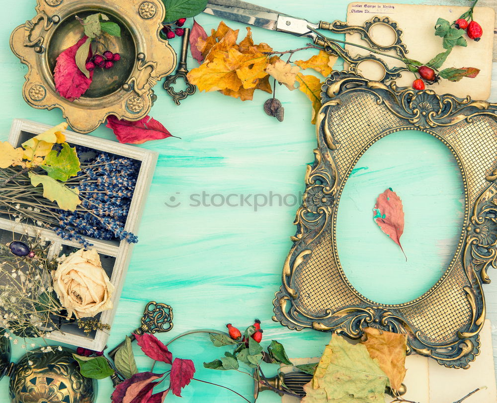
<svg viewBox="0 0 497 403">
<path fill-rule="evenodd" d="M 302 403 L 384 403 L 387 376 L 363 344 L 333 334 Z"/>
</svg>

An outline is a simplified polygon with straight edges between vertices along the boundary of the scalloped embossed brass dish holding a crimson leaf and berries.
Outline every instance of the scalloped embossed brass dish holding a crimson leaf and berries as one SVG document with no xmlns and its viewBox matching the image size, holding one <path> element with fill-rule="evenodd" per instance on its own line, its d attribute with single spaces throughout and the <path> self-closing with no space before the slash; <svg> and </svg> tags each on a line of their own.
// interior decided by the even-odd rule
<svg viewBox="0 0 497 403">
<path fill-rule="evenodd" d="M 69 125 L 88 133 L 112 114 L 135 121 L 145 117 L 155 97 L 152 87 L 176 65 L 176 54 L 159 32 L 165 16 L 161 0 L 37 0 L 37 14 L 10 36 L 12 52 L 28 66 L 22 88 L 37 109 L 60 108 Z M 110 70 L 95 69 L 92 83 L 73 102 L 55 90 L 56 58 L 83 37 L 75 18 L 102 12 L 121 27 L 112 51 L 121 60 Z"/>
</svg>

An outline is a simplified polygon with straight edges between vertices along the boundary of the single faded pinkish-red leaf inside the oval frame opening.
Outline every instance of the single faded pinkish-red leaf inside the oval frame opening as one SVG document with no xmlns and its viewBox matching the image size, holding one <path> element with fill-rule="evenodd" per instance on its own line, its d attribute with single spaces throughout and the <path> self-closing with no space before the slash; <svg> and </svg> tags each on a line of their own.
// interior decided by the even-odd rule
<svg viewBox="0 0 497 403">
<path fill-rule="evenodd" d="M 400 238 L 404 233 L 404 210 L 402 209 L 402 200 L 392 188 L 388 188 L 378 196 L 373 209 L 373 214 L 375 223 L 378 224 L 381 230 L 387 234 L 392 241 L 400 246 L 402 253 L 406 256 L 400 241 Z"/>
</svg>

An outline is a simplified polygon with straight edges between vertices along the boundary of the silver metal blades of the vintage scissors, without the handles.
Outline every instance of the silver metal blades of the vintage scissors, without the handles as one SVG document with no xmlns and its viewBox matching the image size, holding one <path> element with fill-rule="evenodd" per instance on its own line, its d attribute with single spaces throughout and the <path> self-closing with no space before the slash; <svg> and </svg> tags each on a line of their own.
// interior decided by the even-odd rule
<svg viewBox="0 0 497 403">
<path fill-rule="evenodd" d="M 221 19 L 229 19 L 296 36 L 314 38 L 315 34 L 307 26 L 311 25 L 318 28 L 317 24 L 312 24 L 303 18 L 292 17 L 269 8 L 239 0 L 210 0 L 204 12 Z"/>
</svg>

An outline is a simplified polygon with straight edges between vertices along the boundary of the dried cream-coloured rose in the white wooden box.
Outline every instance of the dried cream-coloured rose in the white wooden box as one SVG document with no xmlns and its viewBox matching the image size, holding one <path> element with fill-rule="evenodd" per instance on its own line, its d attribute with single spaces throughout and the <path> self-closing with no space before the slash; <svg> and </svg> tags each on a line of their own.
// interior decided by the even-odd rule
<svg viewBox="0 0 497 403">
<path fill-rule="evenodd" d="M 54 290 L 67 309 L 68 318 L 93 317 L 112 309 L 114 286 L 102 268 L 95 249 L 80 249 L 59 262 L 52 271 Z"/>
</svg>

